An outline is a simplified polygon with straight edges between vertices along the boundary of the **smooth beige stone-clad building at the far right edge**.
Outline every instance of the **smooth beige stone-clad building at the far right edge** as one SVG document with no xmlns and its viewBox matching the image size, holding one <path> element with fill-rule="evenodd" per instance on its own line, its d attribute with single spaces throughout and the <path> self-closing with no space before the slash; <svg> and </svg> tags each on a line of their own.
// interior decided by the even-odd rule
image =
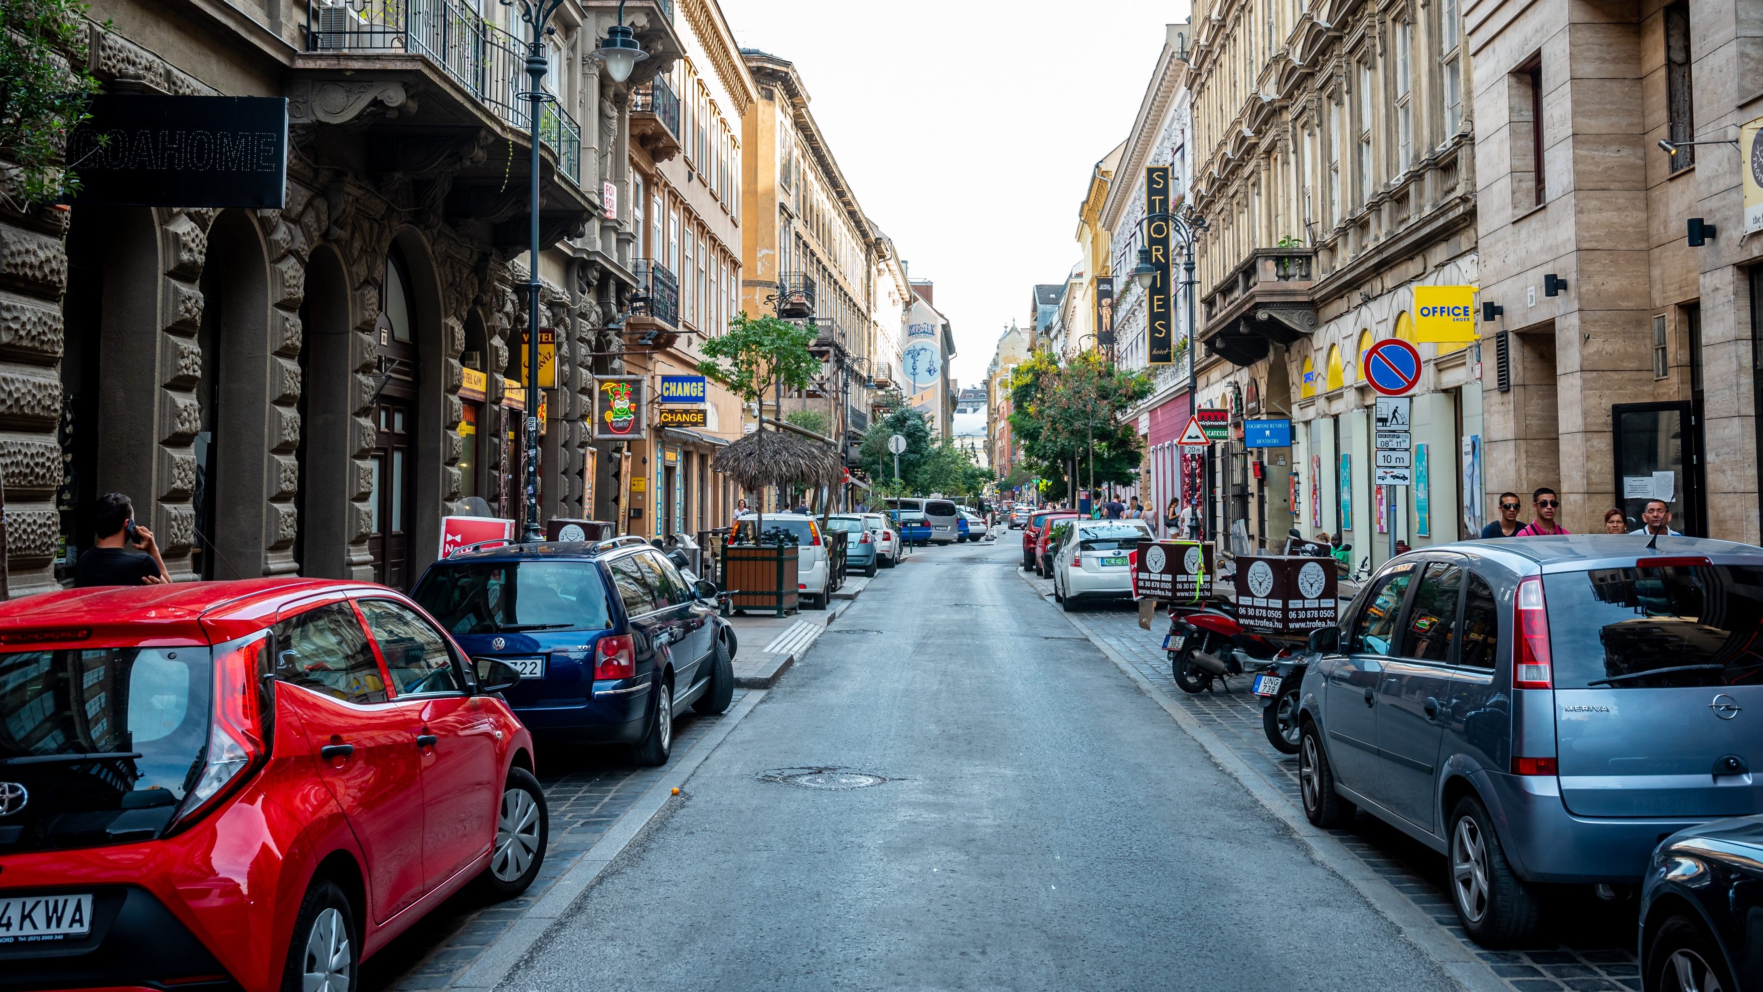
<svg viewBox="0 0 1763 992">
<path fill-rule="evenodd" d="M 1481 322 L 1486 490 L 1529 504 L 1551 485 L 1573 530 L 1610 506 L 1638 527 L 1659 495 L 1678 530 L 1758 543 L 1763 238 L 1740 180 L 1763 155 L 1726 143 L 1763 118 L 1758 4 L 1463 14 L 1481 301 L 1499 307 Z"/>
</svg>

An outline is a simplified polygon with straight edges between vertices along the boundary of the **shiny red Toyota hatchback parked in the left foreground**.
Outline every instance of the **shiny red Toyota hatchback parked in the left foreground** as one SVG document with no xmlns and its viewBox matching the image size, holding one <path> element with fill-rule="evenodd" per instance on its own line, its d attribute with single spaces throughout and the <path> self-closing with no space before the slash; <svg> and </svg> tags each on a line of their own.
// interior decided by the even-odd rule
<svg viewBox="0 0 1763 992">
<path fill-rule="evenodd" d="M 0 604 L 0 988 L 349 992 L 467 883 L 524 892 L 517 680 L 376 585 Z"/>
</svg>

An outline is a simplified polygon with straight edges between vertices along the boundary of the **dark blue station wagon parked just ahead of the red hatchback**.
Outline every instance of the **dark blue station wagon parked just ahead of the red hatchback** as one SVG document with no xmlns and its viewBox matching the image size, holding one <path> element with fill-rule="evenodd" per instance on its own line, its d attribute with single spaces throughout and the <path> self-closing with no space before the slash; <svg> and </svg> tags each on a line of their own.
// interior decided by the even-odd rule
<svg viewBox="0 0 1763 992">
<path fill-rule="evenodd" d="M 665 765 L 673 715 L 719 714 L 735 691 L 716 587 L 642 537 L 453 555 L 413 597 L 465 654 L 520 673 L 504 696 L 534 737 L 629 744 L 636 763 Z"/>
</svg>

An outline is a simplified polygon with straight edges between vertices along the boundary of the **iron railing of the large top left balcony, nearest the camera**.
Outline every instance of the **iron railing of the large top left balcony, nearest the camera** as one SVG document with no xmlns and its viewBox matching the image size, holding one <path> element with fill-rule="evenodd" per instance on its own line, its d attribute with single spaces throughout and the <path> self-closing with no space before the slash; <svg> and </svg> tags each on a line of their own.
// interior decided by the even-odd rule
<svg viewBox="0 0 1763 992">
<path fill-rule="evenodd" d="M 307 0 L 307 49 L 420 55 L 510 127 L 531 127 L 531 104 L 522 99 L 531 79 L 525 42 L 462 0 Z M 539 143 L 580 185 L 582 127 L 555 99 L 539 104 Z"/>
</svg>

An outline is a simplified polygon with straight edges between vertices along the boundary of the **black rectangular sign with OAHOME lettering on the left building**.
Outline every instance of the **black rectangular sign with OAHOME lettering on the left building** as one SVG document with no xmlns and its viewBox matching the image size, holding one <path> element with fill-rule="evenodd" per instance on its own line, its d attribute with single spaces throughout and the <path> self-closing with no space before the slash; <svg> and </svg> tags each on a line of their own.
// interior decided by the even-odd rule
<svg viewBox="0 0 1763 992">
<path fill-rule="evenodd" d="M 86 109 L 67 148 L 79 206 L 286 206 L 284 97 L 100 93 Z"/>
</svg>

